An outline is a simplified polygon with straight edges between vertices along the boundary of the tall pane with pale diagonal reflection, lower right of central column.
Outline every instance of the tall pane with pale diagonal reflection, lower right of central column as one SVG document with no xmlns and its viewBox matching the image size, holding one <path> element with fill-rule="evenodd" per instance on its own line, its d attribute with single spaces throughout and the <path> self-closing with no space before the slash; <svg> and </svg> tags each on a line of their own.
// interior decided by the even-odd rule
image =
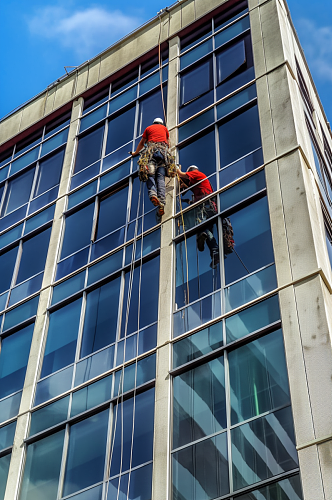
<svg viewBox="0 0 332 500">
<path fill-rule="evenodd" d="M 174 378 L 173 448 L 226 427 L 223 357 Z"/>
</svg>

